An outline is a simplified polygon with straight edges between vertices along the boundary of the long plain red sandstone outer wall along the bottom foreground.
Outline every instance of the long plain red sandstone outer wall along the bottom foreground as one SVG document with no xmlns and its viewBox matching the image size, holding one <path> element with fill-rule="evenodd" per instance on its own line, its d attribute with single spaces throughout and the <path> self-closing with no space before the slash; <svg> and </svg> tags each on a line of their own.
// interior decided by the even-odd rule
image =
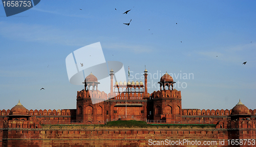
<svg viewBox="0 0 256 147">
<path fill-rule="evenodd" d="M 28 121 L 29 123 L 30 121 Z M 15 121 L 5 121 L 3 128 L 3 146 L 149 146 L 148 140 L 153 141 L 177 141 L 187 139 L 189 141 L 210 141 L 217 143 L 212 146 L 233 146 L 228 145 L 227 139 L 239 138 L 241 134 L 246 139 L 256 139 L 255 121 L 241 122 L 241 125 L 251 124 L 251 128 L 224 129 L 224 128 L 71 128 L 62 125 L 60 128 L 16 128 L 19 124 Z M 253 123 L 250 123 L 253 122 Z M 15 124 L 15 125 L 14 125 Z M 236 124 L 230 124 L 236 125 Z M 239 124 L 238 124 L 239 125 Z M 218 125 L 217 125 L 218 126 Z M 220 126 L 220 124 L 219 124 Z M 228 124 L 224 127 L 228 127 Z M 6 128 L 7 127 L 7 128 Z M 17 126 L 18 127 L 18 126 Z M 230 126 L 232 127 L 232 126 Z M 247 126 L 248 127 L 248 126 Z M 226 145 L 220 145 L 225 139 Z M 241 138 L 240 138 L 241 139 Z M 188 144 L 176 145 L 187 146 Z M 210 145 L 200 145 L 210 146 Z"/>
</svg>

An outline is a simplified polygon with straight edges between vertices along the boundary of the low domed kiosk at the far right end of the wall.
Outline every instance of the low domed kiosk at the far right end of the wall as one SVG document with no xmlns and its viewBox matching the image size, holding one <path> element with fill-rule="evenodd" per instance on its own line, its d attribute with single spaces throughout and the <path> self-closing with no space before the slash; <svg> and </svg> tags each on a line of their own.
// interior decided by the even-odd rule
<svg viewBox="0 0 256 147">
<path fill-rule="evenodd" d="M 249 109 L 239 100 L 238 104 L 234 106 L 230 114 L 231 120 L 250 120 L 251 113 Z"/>
</svg>

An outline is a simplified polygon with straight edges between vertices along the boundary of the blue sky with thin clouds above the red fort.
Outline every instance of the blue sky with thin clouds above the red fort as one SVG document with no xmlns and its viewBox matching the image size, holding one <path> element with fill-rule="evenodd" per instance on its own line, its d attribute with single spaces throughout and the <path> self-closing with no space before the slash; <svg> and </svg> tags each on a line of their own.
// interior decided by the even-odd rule
<svg viewBox="0 0 256 147">
<path fill-rule="evenodd" d="M 255 1 L 55 0 L 10 17 L 0 5 L 1 110 L 18 100 L 33 110 L 76 108 L 84 87 L 69 82 L 65 59 L 96 42 L 126 74 L 146 65 L 149 93 L 173 75 L 182 108 L 231 109 L 239 99 L 256 108 Z"/>
</svg>

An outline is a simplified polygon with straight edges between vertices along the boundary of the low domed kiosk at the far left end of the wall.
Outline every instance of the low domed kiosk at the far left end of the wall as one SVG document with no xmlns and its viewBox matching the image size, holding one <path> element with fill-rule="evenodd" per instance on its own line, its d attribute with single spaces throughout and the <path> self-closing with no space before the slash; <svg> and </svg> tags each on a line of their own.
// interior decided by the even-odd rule
<svg viewBox="0 0 256 147">
<path fill-rule="evenodd" d="M 29 110 L 26 109 L 19 101 L 17 105 L 15 105 L 9 113 L 9 120 L 28 120 Z"/>
</svg>

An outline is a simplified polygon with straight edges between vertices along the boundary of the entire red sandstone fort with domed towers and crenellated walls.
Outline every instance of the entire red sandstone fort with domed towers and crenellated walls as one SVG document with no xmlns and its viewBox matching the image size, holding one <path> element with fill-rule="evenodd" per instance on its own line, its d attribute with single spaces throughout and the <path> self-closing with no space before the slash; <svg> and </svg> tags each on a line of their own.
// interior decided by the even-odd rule
<svg viewBox="0 0 256 147">
<path fill-rule="evenodd" d="M 76 109 L 27 110 L 20 102 L 11 110 L 0 110 L 0 147 L 4 146 L 148 146 L 148 140 L 188 139 L 216 141 L 212 146 L 236 146 L 236 139 L 256 139 L 256 109 L 241 101 L 231 110 L 182 109 L 181 91 L 173 89 L 172 76 L 164 74 L 161 90 L 147 93 L 144 84 L 113 82 L 111 92 L 98 90 L 100 84 L 92 73 L 84 80 L 84 90 L 77 92 Z M 91 95 L 90 95 L 91 93 Z M 92 103 L 92 99 L 96 104 Z M 95 125 L 110 121 L 137 120 L 148 124 L 210 124 L 214 128 L 71 128 L 65 125 Z M 42 126 L 59 125 L 59 128 Z M 224 140 L 225 144 L 220 141 Z M 176 145 L 187 146 L 188 144 Z M 193 145 L 193 144 L 192 144 Z M 256 142 L 255 142 L 256 145 Z M 237 146 L 255 146 L 238 144 Z M 210 145 L 195 145 L 210 146 Z"/>
</svg>

